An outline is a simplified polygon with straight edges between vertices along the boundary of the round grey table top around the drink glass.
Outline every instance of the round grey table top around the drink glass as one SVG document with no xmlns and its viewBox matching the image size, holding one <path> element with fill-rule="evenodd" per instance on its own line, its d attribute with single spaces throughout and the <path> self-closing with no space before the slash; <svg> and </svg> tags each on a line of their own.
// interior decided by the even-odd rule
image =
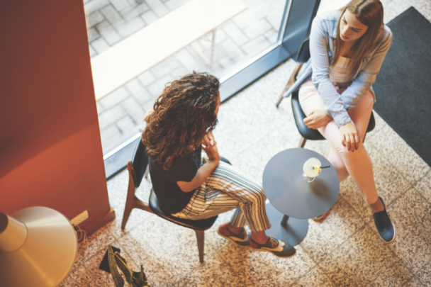
<svg viewBox="0 0 431 287">
<path fill-rule="evenodd" d="M 311 183 L 303 180 L 303 164 L 316 157 L 322 166 Z M 272 206 L 292 218 L 315 218 L 328 211 L 340 191 L 337 171 L 328 159 L 312 150 L 293 148 L 274 155 L 264 169 L 263 188 Z"/>
</svg>

